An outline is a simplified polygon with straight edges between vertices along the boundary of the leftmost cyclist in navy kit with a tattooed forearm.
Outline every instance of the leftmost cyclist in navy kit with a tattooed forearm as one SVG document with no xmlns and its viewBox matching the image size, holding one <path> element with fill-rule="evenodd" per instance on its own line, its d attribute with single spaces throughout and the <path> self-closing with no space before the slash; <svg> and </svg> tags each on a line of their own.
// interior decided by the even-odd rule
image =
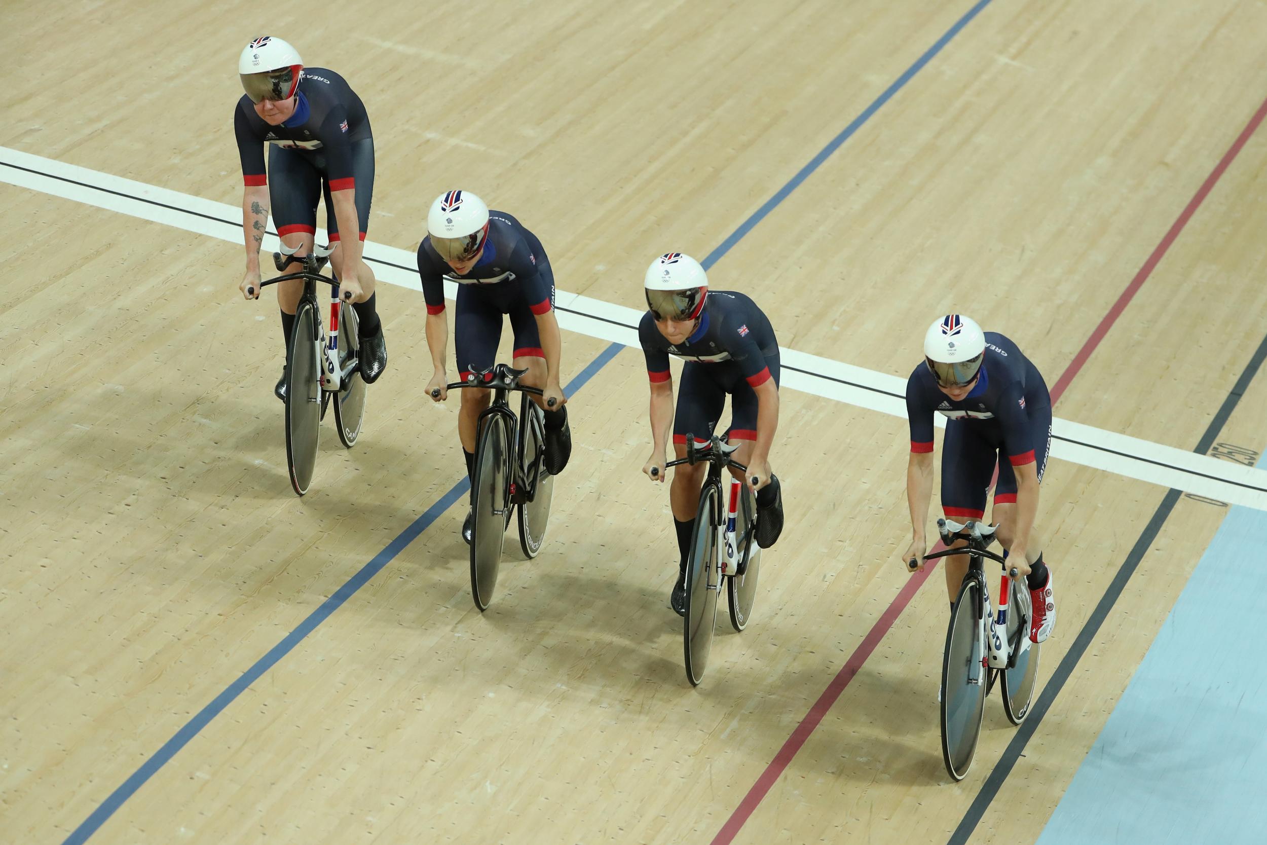
<svg viewBox="0 0 1267 845">
<path fill-rule="evenodd" d="M 361 378 L 372 384 L 386 367 L 388 351 L 375 303 L 374 271 L 361 258 L 374 196 L 374 138 L 365 105 L 342 76 L 324 67 L 305 68 L 294 47 L 271 35 L 256 38 L 243 48 L 238 75 L 246 90 L 233 111 L 245 184 L 242 295 L 260 298 L 260 243 L 269 223 L 270 200 L 281 242 L 299 247 L 296 257 L 303 257 L 313 248 L 317 203 L 324 194 L 326 229 L 334 245 L 331 266 L 340 281 L 340 294 L 356 310 Z M 264 144 L 269 144 L 267 172 Z M 359 237 L 341 238 L 341 233 Z M 285 271 L 302 269 L 302 264 L 291 262 Z M 277 285 L 286 348 L 303 291 L 302 280 Z M 285 400 L 285 367 L 274 393 Z"/>
</svg>

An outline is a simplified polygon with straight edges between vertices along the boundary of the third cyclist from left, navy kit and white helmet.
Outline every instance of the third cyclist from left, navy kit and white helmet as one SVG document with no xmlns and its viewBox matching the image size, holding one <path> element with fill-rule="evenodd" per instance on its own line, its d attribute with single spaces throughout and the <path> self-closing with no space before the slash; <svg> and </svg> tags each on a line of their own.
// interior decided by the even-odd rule
<svg viewBox="0 0 1267 845">
<path fill-rule="evenodd" d="M 779 345 L 774 328 L 744 294 L 710 291 L 704 269 L 680 252 L 666 252 L 653 261 L 642 286 L 649 310 L 639 323 L 639 341 L 651 380 L 653 441 L 642 471 L 653 481 L 663 481 L 670 426 L 674 452 L 684 457 L 687 435 L 697 441 L 712 437 L 730 395 L 726 438 L 739 441 L 734 457 L 748 466 L 750 478 L 745 483 L 756 494 L 756 542 L 769 549 L 783 531 L 783 495 L 769 464 L 779 422 Z M 670 355 L 685 361 L 677 414 Z M 706 473 L 704 464 L 680 464 L 669 486 L 679 556 L 669 606 L 678 616 L 685 613 L 687 552 Z"/>
</svg>

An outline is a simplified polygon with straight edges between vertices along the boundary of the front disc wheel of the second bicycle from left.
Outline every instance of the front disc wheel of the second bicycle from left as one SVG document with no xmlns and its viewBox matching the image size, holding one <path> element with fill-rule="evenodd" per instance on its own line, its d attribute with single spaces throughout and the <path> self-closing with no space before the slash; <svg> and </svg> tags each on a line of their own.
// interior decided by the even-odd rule
<svg viewBox="0 0 1267 845">
<path fill-rule="evenodd" d="M 484 418 L 475 445 L 475 485 L 471 490 L 471 595 L 485 609 L 493 600 L 506 542 L 509 503 L 511 435 L 500 414 Z"/>
</svg>

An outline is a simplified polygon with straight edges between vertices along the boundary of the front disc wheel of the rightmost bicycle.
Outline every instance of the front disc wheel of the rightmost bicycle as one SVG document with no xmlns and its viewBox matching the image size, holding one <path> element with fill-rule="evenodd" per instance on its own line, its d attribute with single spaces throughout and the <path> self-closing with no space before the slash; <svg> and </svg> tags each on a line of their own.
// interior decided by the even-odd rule
<svg viewBox="0 0 1267 845">
<path fill-rule="evenodd" d="M 955 780 L 963 780 L 972 766 L 986 712 L 981 603 L 981 585 L 964 580 L 950 611 L 941 661 L 941 759 Z"/>
</svg>

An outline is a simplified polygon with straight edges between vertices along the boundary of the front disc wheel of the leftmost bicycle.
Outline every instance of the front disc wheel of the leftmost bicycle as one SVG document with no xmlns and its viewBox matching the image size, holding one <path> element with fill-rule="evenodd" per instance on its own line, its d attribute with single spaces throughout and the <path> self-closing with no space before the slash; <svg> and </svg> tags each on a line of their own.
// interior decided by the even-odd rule
<svg viewBox="0 0 1267 845">
<path fill-rule="evenodd" d="M 317 466 L 321 435 L 321 364 L 317 360 L 317 309 L 300 302 L 286 352 L 286 466 L 290 486 L 303 495 Z"/>
</svg>

